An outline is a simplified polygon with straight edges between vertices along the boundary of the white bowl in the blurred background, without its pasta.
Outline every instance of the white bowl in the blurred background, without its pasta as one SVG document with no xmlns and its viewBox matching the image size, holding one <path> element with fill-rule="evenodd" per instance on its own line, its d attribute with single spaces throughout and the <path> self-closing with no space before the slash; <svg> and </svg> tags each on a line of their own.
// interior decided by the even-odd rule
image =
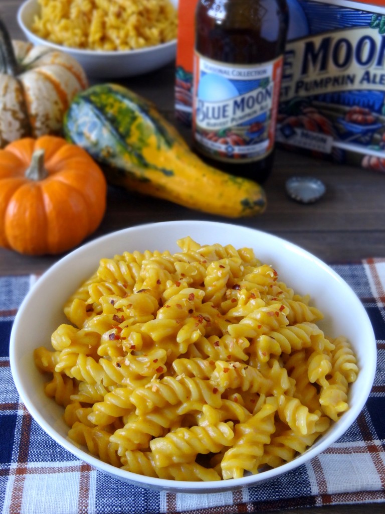
<svg viewBox="0 0 385 514">
<path fill-rule="evenodd" d="M 178 6 L 178 0 L 171 2 Z M 141 75 L 165 66 L 176 56 L 176 39 L 157 46 L 127 51 L 83 50 L 56 45 L 31 31 L 33 17 L 38 12 L 40 6 L 37 0 L 27 0 L 18 9 L 17 22 L 27 40 L 34 45 L 45 45 L 69 53 L 83 66 L 89 78 L 112 79 Z"/>
</svg>

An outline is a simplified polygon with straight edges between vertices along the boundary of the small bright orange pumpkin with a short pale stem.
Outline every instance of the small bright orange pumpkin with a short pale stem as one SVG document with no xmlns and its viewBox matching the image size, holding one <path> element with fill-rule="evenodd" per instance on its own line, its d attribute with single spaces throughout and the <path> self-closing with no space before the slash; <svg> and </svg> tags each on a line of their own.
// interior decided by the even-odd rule
<svg viewBox="0 0 385 514">
<path fill-rule="evenodd" d="M 0 246 L 29 255 L 73 248 L 101 223 L 106 192 L 79 146 L 55 136 L 13 141 L 0 150 Z"/>
</svg>

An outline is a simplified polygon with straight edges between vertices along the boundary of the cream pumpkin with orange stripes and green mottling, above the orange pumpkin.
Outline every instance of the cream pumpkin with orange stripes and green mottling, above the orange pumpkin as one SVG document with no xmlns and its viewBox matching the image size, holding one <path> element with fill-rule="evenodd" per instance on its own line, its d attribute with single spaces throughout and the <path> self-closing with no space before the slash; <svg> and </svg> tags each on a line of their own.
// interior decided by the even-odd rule
<svg viewBox="0 0 385 514">
<path fill-rule="evenodd" d="M 73 57 L 11 41 L 0 20 L 0 148 L 23 137 L 60 135 L 72 98 L 86 87 L 86 74 Z"/>
</svg>

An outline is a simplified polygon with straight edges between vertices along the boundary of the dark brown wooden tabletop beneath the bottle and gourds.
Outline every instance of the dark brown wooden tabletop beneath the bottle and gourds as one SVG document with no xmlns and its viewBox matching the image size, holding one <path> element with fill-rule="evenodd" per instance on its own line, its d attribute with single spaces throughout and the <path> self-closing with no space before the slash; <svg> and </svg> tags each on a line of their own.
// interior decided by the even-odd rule
<svg viewBox="0 0 385 514">
<path fill-rule="evenodd" d="M 2 0 L 0 5 L 0 16 L 13 39 L 24 39 L 16 21 L 16 11 L 21 3 L 21 0 Z M 155 102 L 166 118 L 174 122 L 172 65 L 154 74 L 127 79 L 121 83 Z M 180 125 L 178 128 L 189 141 L 189 131 Z M 322 179 L 326 194 L 312 205 L 295 203 L 285 192 L 285 181 L 294 175 Z M 268 198 L 265 213 L 253 218 L 235 219 L 233 223 L 286 238 L 328 263 L 356 262 L 364 258 L 385 256 L 385 176 L 381 173 L 339 166 L 278 150 L 273 172 L 264 183 L 264 188 Z M 111 187 L 104 220 L 92 238 L 133 225 L 178 219 L 228 221 Z M 0 275 L 41 273 L 59 258 L 30 258 L 0 249 Z M 315 514 L 319 511 L 325 514 L 380 514 L 384 506 L 348 505 L 276 512 Z"/>
</svg>

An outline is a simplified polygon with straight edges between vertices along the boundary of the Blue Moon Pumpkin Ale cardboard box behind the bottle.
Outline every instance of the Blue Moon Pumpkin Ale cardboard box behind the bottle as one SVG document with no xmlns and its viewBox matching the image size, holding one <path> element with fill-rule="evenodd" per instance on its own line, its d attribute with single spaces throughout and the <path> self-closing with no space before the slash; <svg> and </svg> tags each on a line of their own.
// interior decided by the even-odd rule
<svg viewBox="0 0 385 514">
<path fill-rule="evenodd" d="M 187 125 L 197 1 L 179 3 L 175 108 Z M 277 144 L 385 171 L 385 0 L 286 1 Z"/>
</svg>

